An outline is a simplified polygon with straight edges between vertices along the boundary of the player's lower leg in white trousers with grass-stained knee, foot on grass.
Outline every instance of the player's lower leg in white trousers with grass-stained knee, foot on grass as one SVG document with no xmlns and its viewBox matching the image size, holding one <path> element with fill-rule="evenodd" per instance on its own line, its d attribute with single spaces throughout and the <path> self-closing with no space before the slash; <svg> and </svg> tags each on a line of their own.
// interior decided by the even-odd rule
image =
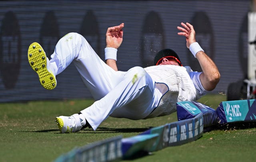
<svg viewBox="0 0 256 162">
<path fill-rule="evenodd" d="M 144 119 L 157 104 L 158 99 L 155 96 L 154 82 L 151 77 L 142 67 L 134 67 L 125 73 L 122 81 L 105 97 L 82 110 L 80 115 L 83 116 L 81 119 L 86 119 L 96 130 L 110 115 L 133 120 Z M 77 122 L 72 128 L 74 131 L 79 131 L 82 128 L 79 117 L 73 115 L 73 118 L 73 121 Z M 64 127 L 66 130 L 67 124 L 63 124 L 61 128 Z"/>
</svg>

